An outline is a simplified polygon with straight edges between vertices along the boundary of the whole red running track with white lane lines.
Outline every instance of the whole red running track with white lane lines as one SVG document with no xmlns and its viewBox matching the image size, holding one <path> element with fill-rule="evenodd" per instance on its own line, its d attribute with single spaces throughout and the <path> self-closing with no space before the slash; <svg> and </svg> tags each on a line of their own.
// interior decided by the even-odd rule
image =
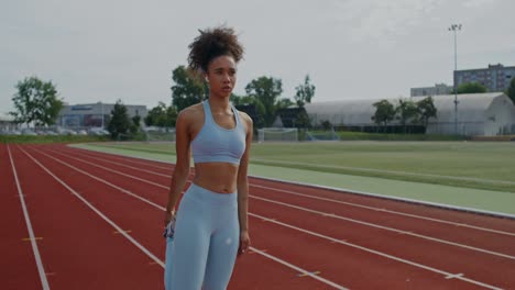
<svg viewBox="0 0 515 290">
<path fill-rule="evenodd" d="M 172 165 L 63 145 L 0 145 L 0 158 L 7 289 L 44 280 L 14 168 L 50 288 L 162 289 Z M 250 181 L 254 250 L 230 289 L 515 288 L 513 220 Z"/>
</svg>

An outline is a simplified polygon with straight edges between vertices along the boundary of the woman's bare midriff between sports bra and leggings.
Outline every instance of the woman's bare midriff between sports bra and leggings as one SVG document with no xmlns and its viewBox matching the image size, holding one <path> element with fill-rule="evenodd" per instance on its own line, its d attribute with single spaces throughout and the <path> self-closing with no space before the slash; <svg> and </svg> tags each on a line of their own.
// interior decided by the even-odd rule
<svg viewBox="0 0 515 290">
<path fill-rule="evenodd" d="M 233 193 L 237 191 L 238 168 L 229 163 L 195 164 L 193 182 L 217 193 Z"/>
</svg>

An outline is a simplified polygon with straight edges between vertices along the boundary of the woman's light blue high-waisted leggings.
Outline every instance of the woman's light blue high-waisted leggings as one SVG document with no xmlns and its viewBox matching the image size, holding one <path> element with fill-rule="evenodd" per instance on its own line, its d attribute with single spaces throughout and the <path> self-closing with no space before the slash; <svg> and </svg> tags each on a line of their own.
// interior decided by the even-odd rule
<svg viewBox="0 0 515 290">
<path fill-rule="evenodd" d="M 237 196 L 188 188 L 166 242 L 166 290 L 227 288 L 240 243 Z"/>
</svg>

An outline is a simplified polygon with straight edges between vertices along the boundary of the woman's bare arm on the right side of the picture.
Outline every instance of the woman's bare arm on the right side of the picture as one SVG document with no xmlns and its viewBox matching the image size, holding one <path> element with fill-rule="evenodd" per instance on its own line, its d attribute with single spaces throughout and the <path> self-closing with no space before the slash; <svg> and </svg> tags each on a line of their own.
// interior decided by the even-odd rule
<svg viewBox="0 0 515 290">
<path fill-rule="evenodd" d="M 238 254 L 245 253 L 250 247 L 249 236 L 249 180 L 248 180 L 248 168 L 250 160 L 250 149 L 252 144 L 252 119 L 248 114 L 242 114 L 242 120 L 246 124 L 246 137 L 245 137 L 245 152 L 240 160 L 240 167 L 238 169 L 238 216 L 240 221 L 240 248 Z"/>
</svg>

